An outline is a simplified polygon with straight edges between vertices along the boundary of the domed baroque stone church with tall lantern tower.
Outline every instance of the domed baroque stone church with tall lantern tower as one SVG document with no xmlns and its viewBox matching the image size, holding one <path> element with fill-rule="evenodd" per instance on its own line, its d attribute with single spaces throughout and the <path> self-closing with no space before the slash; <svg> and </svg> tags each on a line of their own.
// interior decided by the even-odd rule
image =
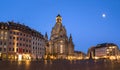
<svg viewBox="0 0 120 70">
<path fill-rule="evenodd" d="M 55 26 L 52 28 L 47 47 L 47 54 L 52 55 L 56 59 L 66 59 L 68 56 L 74 55 L 74 44 L 72 36 L 69 39 L 65 26 L 62 25 L 62 17 L 60 14 L 56 17 Z"/>
</svg>

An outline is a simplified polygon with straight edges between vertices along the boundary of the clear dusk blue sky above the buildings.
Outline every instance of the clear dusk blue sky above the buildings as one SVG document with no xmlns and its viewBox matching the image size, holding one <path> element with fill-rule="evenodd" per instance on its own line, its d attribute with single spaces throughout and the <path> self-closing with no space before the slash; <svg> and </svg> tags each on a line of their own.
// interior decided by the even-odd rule
<svg viewBox="0 0 120 70">
<path fill-rule="evenodd" d="M 120 46 L 120 0 L 0 0 L 0 21 L 24 23 L 49 38 L 58 13 L 75 50 L 87 53 L 106 42 Z"/>
</svg>

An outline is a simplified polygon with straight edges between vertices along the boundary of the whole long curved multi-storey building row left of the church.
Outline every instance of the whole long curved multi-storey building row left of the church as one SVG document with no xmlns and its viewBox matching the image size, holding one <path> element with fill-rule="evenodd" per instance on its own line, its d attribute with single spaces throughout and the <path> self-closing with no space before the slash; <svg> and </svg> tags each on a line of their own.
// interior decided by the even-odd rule
<svg viewBox="0 0 120 70">
<path fill-rule="evenodd" d="M 44 55 L 44 47 L 44 37 L 39 32 L 19 23 L 0 22 L 0 58 L 9 60 L 37 58 L 36 56 Z"/>
</svg>

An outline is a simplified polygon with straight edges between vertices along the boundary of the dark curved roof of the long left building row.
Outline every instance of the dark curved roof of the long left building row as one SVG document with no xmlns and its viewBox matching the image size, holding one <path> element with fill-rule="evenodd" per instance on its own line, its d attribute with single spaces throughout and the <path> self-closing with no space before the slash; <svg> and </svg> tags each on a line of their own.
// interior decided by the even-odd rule
<svg viewBox="0 0 120 70">
<path fill-rule="evenodd" d="M 39 31 L 31 29 L 29 26 L 26 26 L 24 24 L 8 21 L 8 22 L 0 22 L 0 29 L 1 29 L 1 26 L 8 26 L 9 29 L 20 30 L 22 32 L 29 33 L 33 36 L 44 38 Z"/>
</svg>

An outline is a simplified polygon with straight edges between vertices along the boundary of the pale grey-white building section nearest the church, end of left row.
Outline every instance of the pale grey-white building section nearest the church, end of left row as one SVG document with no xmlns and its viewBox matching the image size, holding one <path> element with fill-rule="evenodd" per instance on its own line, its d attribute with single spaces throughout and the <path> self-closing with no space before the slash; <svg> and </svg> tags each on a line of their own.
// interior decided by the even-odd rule
<svg viewBox="0 0 120 70">
<path fill-rule="evenodd" d="M 41 59 L 45 55 L 45 39 L 38 32 L 32 36 L 32 57 L 33 59 Z"/>
</svg>

